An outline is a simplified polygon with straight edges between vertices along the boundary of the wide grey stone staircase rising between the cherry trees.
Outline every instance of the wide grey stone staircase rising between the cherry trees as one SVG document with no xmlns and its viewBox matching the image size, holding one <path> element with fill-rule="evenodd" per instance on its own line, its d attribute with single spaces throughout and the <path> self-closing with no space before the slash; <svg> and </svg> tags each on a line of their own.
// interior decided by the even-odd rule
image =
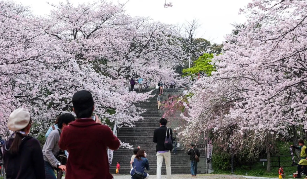
<svg viewBox="0 0 307 179">
<path fill-rule="evenodd" d="M 148 92 L 152 89 L 143 89 L 142 92 Z M 161 101 L 167 99 L 168 94 L 177 95 L 181 94 L 183 89 L 164 89 L 161 95 Z M 152 94 L 158 94 L 157 90 L 154 89 Z M 145 113 L 142 114 L 144 120 L 135 123 L 135 127 L 129 128 L 123 126 L 119 129 L 117 137 L 126 143 L 130 143 L 133 147 L 140 146 L 147 153 L 147 159 L 150 165 L 150 171 L 146 171 L 150 174 L 155 174 L 157 169 L 157 157 L 156 157 L 156 143 L 153 143 L 153 131 L 159 126 L 159 120 L 163 114 L 163 111 L 157 110 L 157 95 L 148 99 L 149 102 L 143 102 L 137 104 L 138 107 L 147 109 Z M 175 128 L 177 126 L 169 126 Z M 114 151 L 112 165 L 110 167 L 110 172 L 115 173 L 116 162 L 120 161 L 121 169 L 120 173 L 129 174 L 130 173 L 130 159 L 133 155 L 131 149 L 119 148 Z M 190 173 L 190 161 L 189 156 L 185 153 L 185 150 L 177 148 L 177 154 L 171 154 L 171 168 L 172 174 L 187 174 Z M 163 161 L 162 173 L 166 173 L 165 162 Z"/>
</svg>

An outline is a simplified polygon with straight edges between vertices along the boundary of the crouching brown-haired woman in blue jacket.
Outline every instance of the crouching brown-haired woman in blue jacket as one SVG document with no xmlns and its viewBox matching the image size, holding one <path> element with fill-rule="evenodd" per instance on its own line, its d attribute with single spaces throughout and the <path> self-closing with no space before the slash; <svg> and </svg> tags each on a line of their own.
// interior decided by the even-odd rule
<svg viewBox="0 0 307 179">
<path fill-rule="evenodd" d="M 148 178 L 149 174 L 145 172 L 145 168 L 149 170 L 149 163 L 145 157 L 145 150 L 139 150 L 132 162 L 132 169 L 130 171 L 131 179 Z"/>
</svg>

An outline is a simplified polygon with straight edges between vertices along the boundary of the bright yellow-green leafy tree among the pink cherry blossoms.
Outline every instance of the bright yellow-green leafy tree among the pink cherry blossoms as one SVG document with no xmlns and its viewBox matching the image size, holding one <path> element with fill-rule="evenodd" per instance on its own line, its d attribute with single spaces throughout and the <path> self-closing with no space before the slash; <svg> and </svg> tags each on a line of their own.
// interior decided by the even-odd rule
<svg viewBox="0 0 307 179">
<path fill-rule="evenodd" d="M 196 61 L 191 68 L 183 69 L 183 76 L 195 77 L 198 73 L 204 73 L 206 76 L 211 76 L 211 72 L 216 71 L 215 66 L 212 64 L 213 53 L 204 53 Z"/>
</svg>

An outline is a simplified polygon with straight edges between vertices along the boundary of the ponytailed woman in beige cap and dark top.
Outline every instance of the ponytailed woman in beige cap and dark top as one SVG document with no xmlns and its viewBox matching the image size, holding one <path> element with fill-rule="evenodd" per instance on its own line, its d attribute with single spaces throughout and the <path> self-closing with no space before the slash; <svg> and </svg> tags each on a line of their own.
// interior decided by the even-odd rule
<svg viewBox="0 0 307 179">
<path fill-rule="evenodd" d="M 28 136 L 31 116 L 23 108 L 14 110 L 7 126 L 14 132 L 5 142 L 3 161 L 6 177 L 14 179 L 45 179 L 43 153 L 37 139 Z"/>
</svg>

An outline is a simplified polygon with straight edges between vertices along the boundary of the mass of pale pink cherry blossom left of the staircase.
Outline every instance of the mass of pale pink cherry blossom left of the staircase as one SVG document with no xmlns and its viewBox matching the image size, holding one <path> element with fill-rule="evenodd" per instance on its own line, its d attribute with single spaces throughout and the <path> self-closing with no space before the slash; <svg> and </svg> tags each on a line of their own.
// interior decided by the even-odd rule
<svg viewBox="0 0 307 179">
<path fill-rule="evenodd" d="M 134 103 L 150 92 L 127 91 L 131 74 L 152 78 L 152 84 L 177 78 L 173 66 L 181 60 L 181 44 L 170 25 L 130 17 L 123 5 L 106 1 L 77 6 L 67 1 L 40 18 L 28 7 L 0 2 L 3 123 L 22 106 L 31 112 L 33 133 L 40 132 L 60 112 L 71 111 L 72 95 L 86 89 L 103 121 L 132 127 L 144 112 Z"/>
</svg>

